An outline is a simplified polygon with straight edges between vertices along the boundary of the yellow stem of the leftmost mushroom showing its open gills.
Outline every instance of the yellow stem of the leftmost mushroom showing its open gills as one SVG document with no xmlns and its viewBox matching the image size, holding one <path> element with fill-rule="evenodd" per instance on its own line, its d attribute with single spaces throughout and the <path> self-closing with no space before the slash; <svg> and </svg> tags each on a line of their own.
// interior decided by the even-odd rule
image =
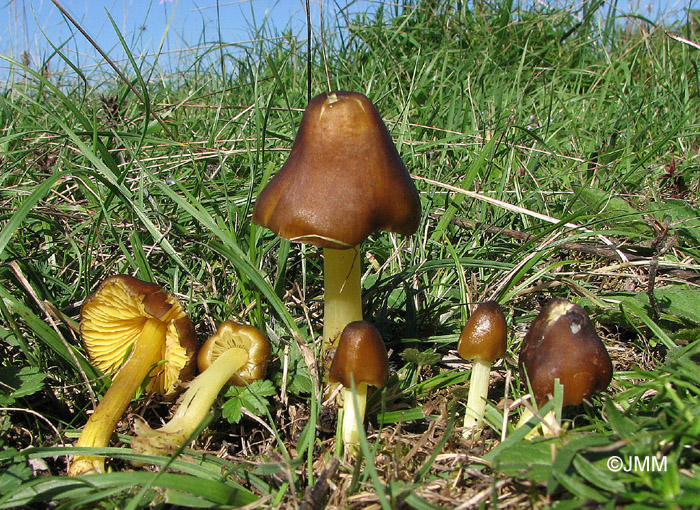
<svg viewBox="0 0 700 510">
<path fill-rule="evenodd" d="M 109 445 L 109 438 L 117 427 L 119 419 L 126 411 L 129 402 L 136 395 L 144 378 L 148 376 L 153 365 L 161 360 L 167 323 L 158 319 L 147 319 L 141 334 L 134 342 L 133 352 L 119 369 L 107 393 L 97 405 L 80 434 L 76 446 L 100 447 Z M 89 472 L 104 472 L 103 457 L 76 455 L 68 470 L 69 476 L 78 476 Z"/>
</svg>

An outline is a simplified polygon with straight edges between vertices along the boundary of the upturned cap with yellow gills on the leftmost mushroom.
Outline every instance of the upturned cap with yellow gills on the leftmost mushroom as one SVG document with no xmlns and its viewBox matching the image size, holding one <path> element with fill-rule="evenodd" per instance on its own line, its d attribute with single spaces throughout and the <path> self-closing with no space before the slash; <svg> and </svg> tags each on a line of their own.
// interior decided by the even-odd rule
<svg viewBox="0 0 700 510">
<path fill-rule="evenodd" d="M 80 334 L 93 365 L 104 373 L 118 371 L 149 319 L 166 322 L 161 364 L 146 390 L 170 395 L 194 375 L 197 337 L 175 296 L 155 283 L 129 275 L 105 279 L 81 309 Z"/>
</svg>

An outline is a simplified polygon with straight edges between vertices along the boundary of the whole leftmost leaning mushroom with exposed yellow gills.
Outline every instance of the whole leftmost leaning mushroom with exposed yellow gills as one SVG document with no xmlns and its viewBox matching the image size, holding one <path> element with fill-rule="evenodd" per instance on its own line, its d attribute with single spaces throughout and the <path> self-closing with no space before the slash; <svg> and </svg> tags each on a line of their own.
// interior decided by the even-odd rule
<svg viewBox="0 0 700 510">
<path fill-rule="evenodd" d="M 104 280 L 80 315 L 80 334 L 93 365 L 116 373 L 76 446 L 107 446 L 144 379 L 146 392 L 170 397 L 194 375 L 197 340 L 175 296 L 128 275 Z M 76 455 L 68 474 L 103 471 L 104 458 Z"/>
</svg>

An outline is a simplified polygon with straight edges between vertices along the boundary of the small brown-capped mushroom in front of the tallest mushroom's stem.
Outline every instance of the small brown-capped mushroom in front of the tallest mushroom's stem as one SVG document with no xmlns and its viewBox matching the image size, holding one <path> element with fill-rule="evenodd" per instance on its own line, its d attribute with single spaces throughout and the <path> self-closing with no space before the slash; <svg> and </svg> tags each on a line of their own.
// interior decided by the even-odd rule
<svg viewBox="0 0 700 510">
<path fill-rule="evenodd" d="M 345 326 L 331 363 L 329 379 L 343 385 L 341 437 L 346 449 L 352 451 L 359 443 L 358 424 L 365 417 L 367 387 L 383 388 L 389 379 L 389 357 L 377 328 L 366 321 L 354 321 Z"/>
</svg>

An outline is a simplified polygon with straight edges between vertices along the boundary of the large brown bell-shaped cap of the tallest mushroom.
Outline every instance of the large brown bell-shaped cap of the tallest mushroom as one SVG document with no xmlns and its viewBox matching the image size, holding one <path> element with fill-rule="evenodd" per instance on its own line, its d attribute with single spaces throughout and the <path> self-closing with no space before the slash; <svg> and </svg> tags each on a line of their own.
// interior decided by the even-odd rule
<svg viewBox="0 0 700 510">
<path fill-rule="evenodd" d="M 260 193 L 253 223 L 292 241 L 345 249 L 375 230 L 410 235 L 420 200 L 371 101 L 316 96 L 282 169 Z"/>
</svg>

